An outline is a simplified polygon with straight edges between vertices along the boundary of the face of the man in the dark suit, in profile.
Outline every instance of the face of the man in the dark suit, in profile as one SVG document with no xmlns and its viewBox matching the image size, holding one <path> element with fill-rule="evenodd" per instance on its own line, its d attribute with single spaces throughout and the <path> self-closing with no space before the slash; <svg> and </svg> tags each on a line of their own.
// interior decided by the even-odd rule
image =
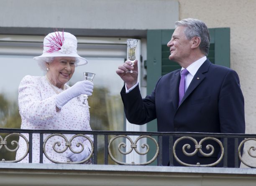
<svg viewBox="0 0 256 186">
<path fill-rule="evenodd" d="M 191 52 L 192 42 L 187 40 L 184 29 L 183 26 L 177 27 L 173 32 L 172 40 L 167 43 L 167 46 L 170 47 L 169 60 L 176 61 L 179 64 L 184 62 Z"/>
</svg>

